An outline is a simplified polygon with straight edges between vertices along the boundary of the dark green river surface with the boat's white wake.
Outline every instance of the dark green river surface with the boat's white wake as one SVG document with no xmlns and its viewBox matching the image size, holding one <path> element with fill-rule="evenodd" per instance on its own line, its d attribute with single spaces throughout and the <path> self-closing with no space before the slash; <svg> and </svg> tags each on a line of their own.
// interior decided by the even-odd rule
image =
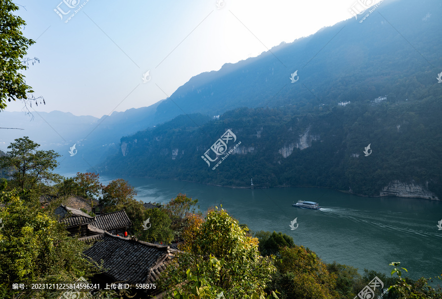
<svg viewBox="0 0 442 299">
<path fill-rule="evenodd" d="M 103 183 L 110 177 L 103 177 Z M 396 197 L 367 198 L 317 188 L 232 189 L 178 180 L 124 177 L 137 199 L 166 203 L 178 193 L 198 199 L 201 211 L 217 205 L 253 231 L 291 236 L 326 263 L 336 261 L 386 273 L 401 262 L 409 277 L 442 274 L 442 202 Z M 320 210 L 293 207 L 299 199 L 318 202 Z M 298 228 L 289 224 L 297 218 Z M 295 225 L 296 226 L 296 225 Z M 404 273 L 403 273 L 404 274 Z"/>
</svg>

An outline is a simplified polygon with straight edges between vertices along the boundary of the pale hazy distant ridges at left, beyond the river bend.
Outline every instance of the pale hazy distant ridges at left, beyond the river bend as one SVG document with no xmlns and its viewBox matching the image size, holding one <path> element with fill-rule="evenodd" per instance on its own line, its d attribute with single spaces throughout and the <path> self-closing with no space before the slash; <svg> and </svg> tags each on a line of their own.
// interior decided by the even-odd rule
<svg viewBox="0 0 442 299">
<path fill-rule="evenodd" d="M 1 129 L 0 149 L 7 151 L 14 139 L 29 136 L 40 144 L 40 149 L 54 149 L 62 157 L 58 159 L 59 173 L 75 174 L 103 161 L 119 146 L 121 136 L 153 125 L 152 115 L 160 102 L 149 107 L 113 112 L 100 119 L 93 116 L 75 116 L 69 112 L 0 112 L 0 127 L 18 127 Z M 32 119 L 32 120 L 31 120 Z M 76 144 L 74 156 L 70 147 Z"/>
</svg>

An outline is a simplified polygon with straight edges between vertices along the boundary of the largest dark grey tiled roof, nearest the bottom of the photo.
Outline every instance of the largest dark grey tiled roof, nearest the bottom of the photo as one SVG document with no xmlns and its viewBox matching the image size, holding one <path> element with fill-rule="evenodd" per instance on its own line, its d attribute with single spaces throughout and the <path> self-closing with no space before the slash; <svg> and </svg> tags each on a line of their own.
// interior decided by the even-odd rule
<svg viewBox="0 0 442 299">
<path fill-rule="evenodd" d="M 114 281 L 131 284 L 155 281 L 164 270 L 168 259 L 168 246 L 126 239 L 106 232 L 100 242 L 83 253 L 103 267 Z"/>
</svg>

